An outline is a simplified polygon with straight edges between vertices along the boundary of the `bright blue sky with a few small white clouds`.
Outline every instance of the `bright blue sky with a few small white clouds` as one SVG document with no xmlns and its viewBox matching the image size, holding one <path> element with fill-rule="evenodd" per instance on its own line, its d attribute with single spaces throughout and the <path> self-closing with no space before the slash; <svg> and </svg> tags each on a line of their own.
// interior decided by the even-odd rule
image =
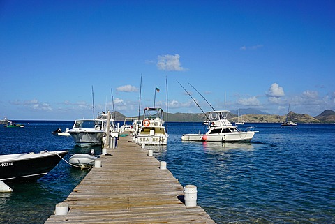
<svg viewBox="0 0 335 224">
<path fill-rule="evenodd" d="M 0 1 L 0 117 L 335 110 L 335 1 Z M 168 88 L 166 87 L 168 80 Z M 168 94 L 167 94 L 168 91 Z M 225 97 L 226 95 L 226 97 Z M 168 97 L 167 97 L 168 96 Z"/>
</svg>

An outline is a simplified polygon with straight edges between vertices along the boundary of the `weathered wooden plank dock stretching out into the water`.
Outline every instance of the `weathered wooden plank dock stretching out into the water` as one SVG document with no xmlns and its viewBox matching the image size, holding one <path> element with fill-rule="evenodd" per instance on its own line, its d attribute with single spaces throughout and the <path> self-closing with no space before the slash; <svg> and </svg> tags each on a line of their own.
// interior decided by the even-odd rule
<svg viewBox="0 0 335 224">
<path fill-rule="evenodd" d="M 186 207 L 179 181 L 130 140 L 120 137 L 117 149 L 107 149 L 102 167 L 64 200 L 68 214 L 45 223 L 215 223 L 201 207 Z"/>
</svg>

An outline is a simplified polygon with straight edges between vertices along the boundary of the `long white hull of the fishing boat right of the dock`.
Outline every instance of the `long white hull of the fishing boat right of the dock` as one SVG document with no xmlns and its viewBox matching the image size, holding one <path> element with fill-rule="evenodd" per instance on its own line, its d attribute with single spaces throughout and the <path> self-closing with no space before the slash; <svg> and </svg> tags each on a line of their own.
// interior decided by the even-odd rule
<svg viewBox="0 0 335 224">
<path fill-rule="evenodd" d="M 227 133 L 225 135 L 212 134 L 185 134 L 181 136 L 184 141 L 200 141 L 200 142 L 250 142 L 255 135 L 255 131 Z"/>
</svg>

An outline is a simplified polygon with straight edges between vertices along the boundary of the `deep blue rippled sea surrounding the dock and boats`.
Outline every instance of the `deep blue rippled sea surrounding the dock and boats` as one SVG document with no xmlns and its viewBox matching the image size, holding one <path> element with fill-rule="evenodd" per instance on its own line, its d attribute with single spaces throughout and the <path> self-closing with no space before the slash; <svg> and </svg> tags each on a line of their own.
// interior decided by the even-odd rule
<svg viewBox="0 0 335 224">
<path fill-rule="evenodd" d="M 91 149 L 52 135 L 73 121 L 21 123 L 25 128 L 0 128 L 0 154 Z M 232 144 L 181 142 L 202 124 L 170 123 L 168 146 L 147 148 L 181 185 L 198 187 L 198 205 L 216 223 L 335 223 L 335 125 L 244 126 L 251 125 L 259 131 L 251 143 Z M 0 193 L 0 223 L 44 223 L 86 174 L 61 161 L 36 183 L 10 184 L 13 193 Z"/>
</svg>

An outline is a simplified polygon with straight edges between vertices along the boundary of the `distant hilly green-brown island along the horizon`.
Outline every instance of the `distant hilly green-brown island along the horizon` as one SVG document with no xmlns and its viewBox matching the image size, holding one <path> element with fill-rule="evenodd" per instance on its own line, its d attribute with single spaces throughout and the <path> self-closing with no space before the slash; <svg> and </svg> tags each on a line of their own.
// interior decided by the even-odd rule
<svg viewBox="0 0 335 224">
<path fill-rule="evenodd" d="M 246 110 L 245 110 L 246 111 Z M 251 110 L 252 112 L 258 112 L 258 114 L 246 114 L 243 113 L 242 119 L 247 123 L 283 123 L 286 119 L 286 115 L 271 115 L 260 110 Z M 325 110 L 321 114 L 315 117 L 311 117 L 308 114 L 297 114 L 295 112 L 290 112 L 291 121 L 295 123 L 327 123 L 334 124 L 335 123 L 335 112 L 333 110 Z M 168 117 L 168 119 L 167 119 Z M 124 121 L 126 116 L 121 114 L 120 112 L 115 112 L 115 118 L 117 121 Z M 137 116 L 133 117 L 137 119 Z M 140 117 L 142 119 L 142 116 Z M 204 114 L 190 114 L 190 113 L 174 113 L 174 114 L 166 114 L 165 113 L 165 121 L 169 122 L 203 122 L 206 119 Z M 230 112 L 228 116 L 228 120 L 235 122 L 237 121 L 237 114 L 234 112 Z M 241 117 L 239 118 L 241 119 Z"/>
</svg>

